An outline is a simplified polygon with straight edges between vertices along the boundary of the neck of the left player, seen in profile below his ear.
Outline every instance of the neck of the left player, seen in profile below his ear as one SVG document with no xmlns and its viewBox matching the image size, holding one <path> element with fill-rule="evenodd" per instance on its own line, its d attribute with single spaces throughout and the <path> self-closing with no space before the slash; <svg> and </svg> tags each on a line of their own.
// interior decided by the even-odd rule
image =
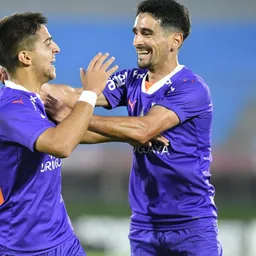
<svg viewBox="0 0 256 256">
<path fill-rule="evenodd" d="M 36 76 L 35 72 L 31 72 L 31 70 L 24 68 L 17 68 L 15 73 L 10 74 L 9 79 L 15 84 L 23 86 L 28 91 L 37 94 L 40 93 L 43 84 L 40 82 L 40 79 Z"/>
</svg>

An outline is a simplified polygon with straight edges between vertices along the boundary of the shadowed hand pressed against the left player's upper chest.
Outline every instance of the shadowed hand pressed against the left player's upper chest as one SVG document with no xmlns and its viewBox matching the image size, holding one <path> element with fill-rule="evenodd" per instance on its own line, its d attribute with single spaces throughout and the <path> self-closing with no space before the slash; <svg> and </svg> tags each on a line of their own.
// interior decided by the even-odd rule
<svg viewBox="0 0 256 256">
<path fill-rule="evenodd" d="M 57 100 L 50 94 L 44 96 L 43 100 L 47 115 L 55 122 L 61 123 L 72 111 L 63 102 Z"/>
</svg>

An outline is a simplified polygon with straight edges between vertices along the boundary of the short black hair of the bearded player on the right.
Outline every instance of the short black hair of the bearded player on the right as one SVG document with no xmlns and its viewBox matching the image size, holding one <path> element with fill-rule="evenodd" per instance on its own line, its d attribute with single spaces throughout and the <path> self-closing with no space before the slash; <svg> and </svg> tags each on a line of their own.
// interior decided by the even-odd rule
<svg viewBox="0 0 256 256">
<path fill-rule="evenodd" d="M 191 30 L 190 16 L 187 8 L 175 0 L 144 0 L 137 8 L 136 16 L 149 13 L 161 22 L 163 28 L 175 28 L 183 34 L 185 40 Z"/>
</svg>

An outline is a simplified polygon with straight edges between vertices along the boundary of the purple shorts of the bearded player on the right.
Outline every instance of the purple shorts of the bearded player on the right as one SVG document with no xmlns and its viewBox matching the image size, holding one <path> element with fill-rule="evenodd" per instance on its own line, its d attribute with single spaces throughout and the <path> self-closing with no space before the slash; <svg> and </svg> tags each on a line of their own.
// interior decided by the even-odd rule
<svg viewBox="0 0 256 256">
<path fill-rule="evenodd" d="M 171 231 L 131 228 L 131 256 L 222 256 L 217 221 L 202 219 L 194 227 Z"/>
</svg>

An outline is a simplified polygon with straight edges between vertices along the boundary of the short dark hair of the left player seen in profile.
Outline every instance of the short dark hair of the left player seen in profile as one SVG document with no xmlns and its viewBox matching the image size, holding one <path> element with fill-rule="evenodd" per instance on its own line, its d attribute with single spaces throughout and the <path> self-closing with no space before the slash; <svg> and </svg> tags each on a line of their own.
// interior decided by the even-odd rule
<svg viewBox="0 0 256 256">
<path fill-rule="evenodd" d="M 8 72 L 18 66 L 18 54 L 33 50 L 36 32 L 47 18 L 39 12 L 14 13 L 0 20 L 0 65 Z"/>
</svg>

